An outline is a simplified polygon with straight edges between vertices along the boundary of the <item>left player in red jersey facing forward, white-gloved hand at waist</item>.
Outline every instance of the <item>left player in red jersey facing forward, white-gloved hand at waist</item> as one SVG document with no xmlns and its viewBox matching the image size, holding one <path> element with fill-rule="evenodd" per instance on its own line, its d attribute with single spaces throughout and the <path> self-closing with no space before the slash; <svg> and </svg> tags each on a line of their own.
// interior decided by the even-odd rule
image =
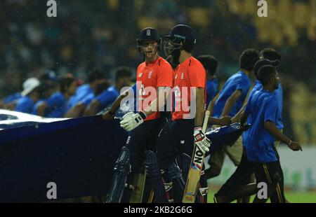
<svg viewBox="0 0 316 217">
<path fill-rule="evenodd" d="M 121 127 L 129 132 L 129 137 L 114 166 L 112 186 L 107 202 L 121 201 L 126 179 L 126 186 L 131 186 L 133 174 L 138 172 L 145 159 L 145 151 L 150 151 L 150 153 L 156 151 L 155 140 L 164 121 L 163 118 L 160 118 L 159 111 L 164 106 L 165 100 L 162 100 L 162 103 L 159 104 L 159 99 L 164 98 L 165 88 L 171 89 L 172 87 L 173 69 L 157 53 L 162 41 L 157 30 L 153 28 L 143 29 L 140 31 L 137 41 L 138 50 L 145 58 L 145 62 L 141 63 L 137 69 L 139 112 L 126 113 L 123 120 L 121 120 Z M 122 99 L 122 97 L 118 97 L 117 100 L 121 101 Z M 119 103 L 114 102 L 114 104 Z M 116 109 L 114 108 L 114 110 Z M 113 108 L 110 111 L 114 114 Z M 148 164 L 150 165 L 151 161 L 150 158 L 147 160 L 146 156 L 146 170 L 150 169 Z M 147 176 L 152 179 L 151 172 L 147 172 Z M 160 187 L 158 186 L 158 188 Z M 155 197 L 159 198 L 159 195 L 155 195 Z"/>
</svg>

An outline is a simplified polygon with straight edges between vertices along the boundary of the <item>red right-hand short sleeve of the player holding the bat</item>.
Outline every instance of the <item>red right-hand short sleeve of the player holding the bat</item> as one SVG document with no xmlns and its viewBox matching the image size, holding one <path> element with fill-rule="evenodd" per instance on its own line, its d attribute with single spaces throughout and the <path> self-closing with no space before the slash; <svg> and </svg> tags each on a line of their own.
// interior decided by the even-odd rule
<svg viewBox="0 0 316 217">
<path fill-rule="evenodd" d="M 192 64 L 189 68 L 191 87 L 204 87 L 206 85 L 206 73 L 202 64 Z"/>
</svg>

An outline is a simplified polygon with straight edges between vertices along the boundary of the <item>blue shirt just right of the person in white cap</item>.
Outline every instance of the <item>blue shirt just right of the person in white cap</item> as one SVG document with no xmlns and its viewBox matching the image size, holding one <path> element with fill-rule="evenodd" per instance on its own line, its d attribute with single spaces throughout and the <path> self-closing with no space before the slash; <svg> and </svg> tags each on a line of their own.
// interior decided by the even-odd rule
<svg viewBox="0 0 316 217">
<path fill-rule="evenodd" d="M 46 101 L 48 108 L 45 117 L 62 118 L 67 111 L 67 100 L 61 92 L 56 92 Z"/>
</svg>

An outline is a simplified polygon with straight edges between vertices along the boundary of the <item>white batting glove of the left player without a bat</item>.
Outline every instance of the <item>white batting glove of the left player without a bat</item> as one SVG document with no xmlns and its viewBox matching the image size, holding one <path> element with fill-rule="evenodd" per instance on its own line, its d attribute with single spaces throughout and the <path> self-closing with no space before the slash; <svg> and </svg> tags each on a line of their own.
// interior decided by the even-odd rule
<svg viewBox="0 0 316 217">
<path fill-rule="evenodd" d="M 126 131 L 134 130 L 136 127 L 141 125 L 146 118 L 145 113 L 142 111 L 138 113 L 129 112 L 123 116 L 123 120 L 121 120 L 121 127 Z"/>
</svg>

